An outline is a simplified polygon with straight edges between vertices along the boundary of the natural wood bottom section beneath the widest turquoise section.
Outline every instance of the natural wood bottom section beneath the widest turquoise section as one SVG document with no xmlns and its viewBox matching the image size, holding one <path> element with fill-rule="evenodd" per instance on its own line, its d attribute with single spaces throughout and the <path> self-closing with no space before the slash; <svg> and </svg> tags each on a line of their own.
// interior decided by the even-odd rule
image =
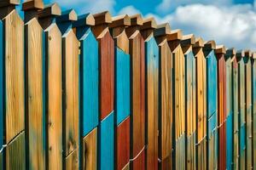
<svg viewBox="0 0 256 170">
<path fill-rule="evenodd" d="M 83 169 L 97 169 L 97 128 L 93 129 L 83 139 Z"/>
</svg>

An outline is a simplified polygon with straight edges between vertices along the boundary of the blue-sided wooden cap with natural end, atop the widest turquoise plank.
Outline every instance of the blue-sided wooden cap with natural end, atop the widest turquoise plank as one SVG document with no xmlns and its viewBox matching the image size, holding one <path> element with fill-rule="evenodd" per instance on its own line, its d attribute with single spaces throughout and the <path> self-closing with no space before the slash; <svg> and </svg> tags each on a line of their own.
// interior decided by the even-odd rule
<svg viewBox="0 0 256 170">
<path fill-rule="evenodd" d="M 95 26 L 95 20 L 92 14 L 79 15 L 78 20 L 73 22 L 73 27 Z"/>
</svg>

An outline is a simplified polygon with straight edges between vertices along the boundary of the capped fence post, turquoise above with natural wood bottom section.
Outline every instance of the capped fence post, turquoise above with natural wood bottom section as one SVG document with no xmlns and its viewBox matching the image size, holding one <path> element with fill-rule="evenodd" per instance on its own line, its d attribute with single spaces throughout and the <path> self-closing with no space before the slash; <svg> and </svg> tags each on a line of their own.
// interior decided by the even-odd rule
<svg viewBox="0 0 256 170">
<path fill-rule="evenodd" d="M 80 167 L 97 169 L 97 134 L 99 120 L 99 54 L 98 42 L 90 26 L 92 14 L 80 15 L 73 29 L 80 41 Z"/>
</svg>

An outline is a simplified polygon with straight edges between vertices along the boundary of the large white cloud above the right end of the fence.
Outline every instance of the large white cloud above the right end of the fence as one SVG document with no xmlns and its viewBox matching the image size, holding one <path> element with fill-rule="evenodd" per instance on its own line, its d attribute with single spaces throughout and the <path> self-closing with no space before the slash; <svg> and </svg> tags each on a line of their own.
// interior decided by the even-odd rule
<svg viewBox="0 0 256 170">
<path fill-rule="evenodd" d="M 226 47 L 256 50 L 256 12 L 252 5 L 217 7 L 191 4 L 178 7 L 172 14 L 154 16 L 159 23 L 169 22 L 174 29 L 195 33 L 205 40 L 214 39 Z"/>
</svg>

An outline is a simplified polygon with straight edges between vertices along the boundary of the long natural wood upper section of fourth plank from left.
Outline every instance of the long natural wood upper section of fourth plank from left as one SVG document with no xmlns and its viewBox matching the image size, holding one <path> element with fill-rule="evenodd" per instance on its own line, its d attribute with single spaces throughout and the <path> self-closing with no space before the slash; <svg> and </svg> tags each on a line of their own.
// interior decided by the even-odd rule
<svg viewBox="0 0 256 170">
<path fill-rule="evenodd" d="M 63 105 L 65 105 L 63 138 L 65 156 L 69 156 L 79 148 L 79 40 L 70 30 L 63 35 L 62 42 Z M 78 151 L 75 153 L 79 154 Z"/>
</svg>

